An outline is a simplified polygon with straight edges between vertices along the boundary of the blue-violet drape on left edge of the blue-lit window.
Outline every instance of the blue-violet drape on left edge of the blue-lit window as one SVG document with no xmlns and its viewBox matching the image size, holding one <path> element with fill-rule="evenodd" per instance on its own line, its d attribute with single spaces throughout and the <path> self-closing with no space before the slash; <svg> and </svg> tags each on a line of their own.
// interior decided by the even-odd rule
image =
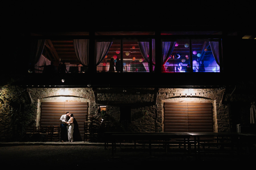
<svg viewBox="0 0 256 170">
<path fill-rule="evenodd" d="M 164 64 L 166 63 L 166 61 L 171 56 L 171 54 L 174 50 L 175 44 L 176 44 L 176 42 L 163 42 L 162 43 L 162 46 L 163 46 L 162 71 L 166 71 L 167 67 L 165 67 Z"/>
</svg>

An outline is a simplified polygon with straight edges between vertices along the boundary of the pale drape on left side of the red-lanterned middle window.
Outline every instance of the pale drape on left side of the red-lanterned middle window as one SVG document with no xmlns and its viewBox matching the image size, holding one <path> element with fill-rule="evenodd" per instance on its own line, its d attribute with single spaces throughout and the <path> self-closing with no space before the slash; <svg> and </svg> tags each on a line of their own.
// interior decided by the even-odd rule
<svg viewBox="0 0 256 170">
<path fill-rule="evenodd" d="M 99 65 L 108 54 L 111 45 L 112 42 L 96 42 L 96 66 Z"/>
</svg>

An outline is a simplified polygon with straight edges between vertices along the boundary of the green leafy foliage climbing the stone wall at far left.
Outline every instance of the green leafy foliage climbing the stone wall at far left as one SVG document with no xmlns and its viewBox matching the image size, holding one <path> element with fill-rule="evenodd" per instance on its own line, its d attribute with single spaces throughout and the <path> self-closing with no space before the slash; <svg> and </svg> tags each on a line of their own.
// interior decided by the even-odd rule
<svg viewBox="0 0 256 170">
<path fill-rule="evenodd" d="M 13 135 L 17 138 L 18 135 L 22 134 L 23 126 L 32 118 L 36 106 L 27 101 L 25 90 L 20 90 L 11 84 L 1 87 L 0 111 L 5 138 L 10 138 L 10 136 L 14 138 Z M 9 128 L 6 128 L 8 125 Z"/>
</svg>

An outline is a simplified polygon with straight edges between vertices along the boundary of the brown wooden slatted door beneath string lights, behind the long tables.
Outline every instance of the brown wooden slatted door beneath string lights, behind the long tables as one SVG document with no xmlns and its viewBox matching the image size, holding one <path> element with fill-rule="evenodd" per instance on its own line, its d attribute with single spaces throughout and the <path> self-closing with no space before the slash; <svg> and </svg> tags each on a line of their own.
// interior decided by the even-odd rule
<svg viewBox="0 0 256 170">
<path fill-rule="evenodd" d="M 165 132 L 213 132 L 211 103 L 164 103 Z"/>
</svg>

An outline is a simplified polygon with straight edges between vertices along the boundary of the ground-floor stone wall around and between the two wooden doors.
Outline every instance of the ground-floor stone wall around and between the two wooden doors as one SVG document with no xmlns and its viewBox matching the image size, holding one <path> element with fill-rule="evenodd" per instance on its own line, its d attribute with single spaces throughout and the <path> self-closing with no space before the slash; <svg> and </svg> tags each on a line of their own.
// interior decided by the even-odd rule
<svg viewBox="0 0 256 170">
<path fill-rule="evenodd" d="M 43 101 L 86 101 L 89 103 L 88 113 L 101 116 L 98 112 L 99 104 L 95 103 L 94 92 L 91 88 L 30 88 L 29 92 L 34 105 L 38 108 L 33 116 L 33 118 L 36 119 L 37 125 L 40 124 L 40 105 Z M 187 95 L 187 97 L 185 95 Z M 102 93 L 98 94 L 97 98 L 99 101 L 111 101 L 112 104 L 106 105 L 106 114 L 112 118 L 112 121 L 119 124 L 120 110 L 118 104 L 130 104 L 131 122 L 121 125 L 124 131 L 163 132 L 163 104 L 164 102 L 170 101 L 211 102 L 213 106 L 214 131 L 230 131 L 228 108 L 227 105 L 221 104 L 222 89 L 161 88 L 158 91 L 156 105 L 147 106 L 143 105 L 143 102 L 152 102 L 154 94 Z M 113 103 L 115 103 L 115 105 L 113 105 Z M 133 107 L 135 103 L 137 105 Z M 138 103 L 142 103 L 142 105 L 140 106 Z M 3 108 L 2 105 L 1 107 Z"/>
</svg>

